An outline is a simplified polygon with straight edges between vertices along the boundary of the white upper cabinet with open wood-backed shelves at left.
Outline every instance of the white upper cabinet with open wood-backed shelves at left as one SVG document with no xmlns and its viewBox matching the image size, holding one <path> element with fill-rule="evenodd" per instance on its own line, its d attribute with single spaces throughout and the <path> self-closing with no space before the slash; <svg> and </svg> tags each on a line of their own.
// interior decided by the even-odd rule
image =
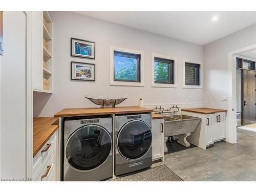
<svg viewBox="0 0 256 192">
<path fill-rule="evenodd" d="M 52 93 L 52 20 L 47 11 L 32 11 L 33 91 Z"/>
</svg>

